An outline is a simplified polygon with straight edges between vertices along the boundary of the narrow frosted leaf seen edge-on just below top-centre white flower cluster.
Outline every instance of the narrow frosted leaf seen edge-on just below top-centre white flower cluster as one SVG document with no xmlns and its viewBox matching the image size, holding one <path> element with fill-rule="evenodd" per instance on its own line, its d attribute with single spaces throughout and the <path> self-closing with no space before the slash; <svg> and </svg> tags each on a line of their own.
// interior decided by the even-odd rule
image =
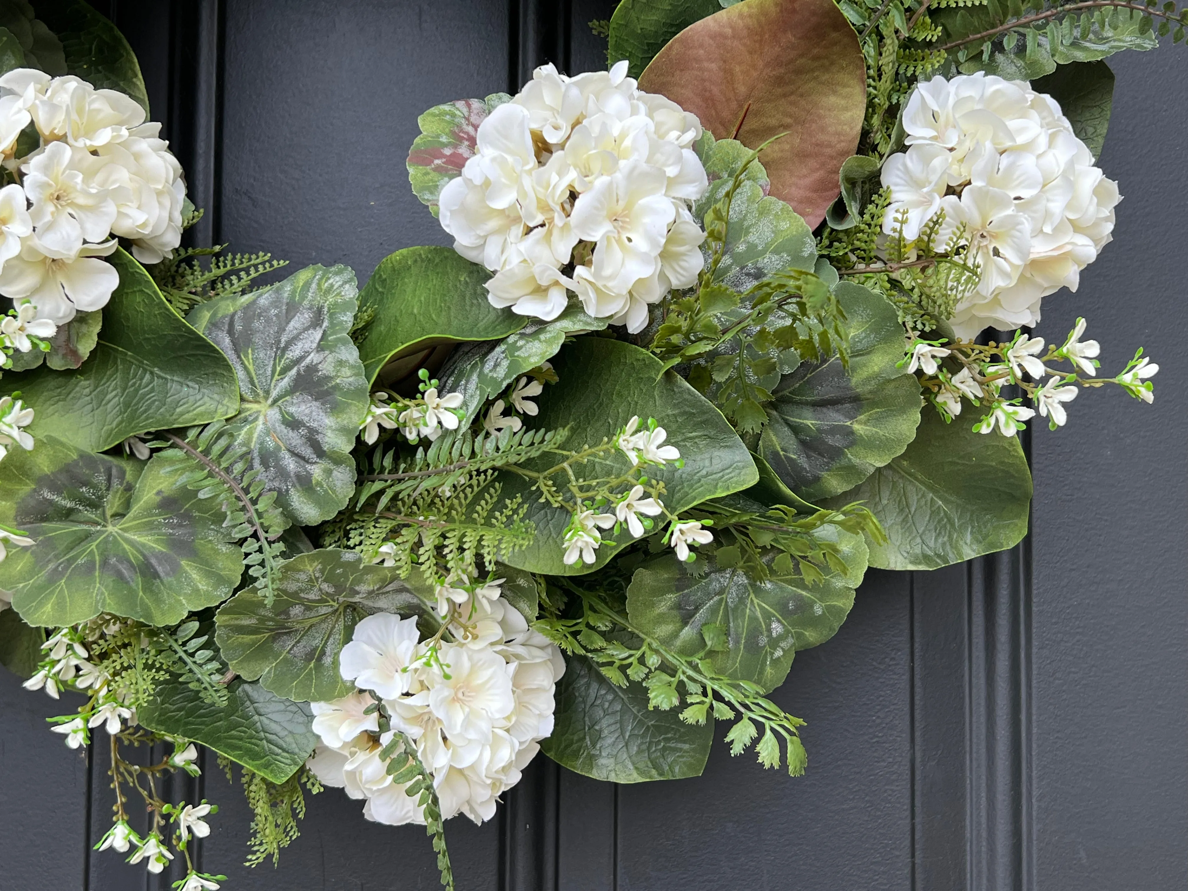
<svg viewBox="0 0 1188 891">
<path fill-rule="evenodd" d="M 462 393 L 462 423 L 474 419 L 482 403 L 501 393 L 520 374 L 552 359 L 565 337 L 601 331 L 606 318 L 586 315 L 571 304 L 551 322 L 529 320 L 519 331 L 500 341 L 463 345 L 454 350 L 438 375 L 442 392 Z"/>
</svg>

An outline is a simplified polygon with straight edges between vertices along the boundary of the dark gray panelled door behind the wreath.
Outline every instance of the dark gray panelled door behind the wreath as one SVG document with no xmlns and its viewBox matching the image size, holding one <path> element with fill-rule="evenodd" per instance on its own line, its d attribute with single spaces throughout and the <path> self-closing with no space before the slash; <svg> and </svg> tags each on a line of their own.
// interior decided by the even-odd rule
<svg viewBox="0 0 1188 891">
<path fill-rule="evenodd" d="M 447 244 L 404 156 L 425 108 L 511 89 L 546 59 L 605 63 L 611 0 L 112 0 L 154 118 L 208 208 L 202 238 L 365 279 Z M 808 776 L 715 750 L 697 779 L 614 786 L 538 758 L 484 827 L 447 829 L 462 891 L 1178 891 L 1188 881 L 1188 59 L 1116 56 L 1102 166 L 1116 244 L 1041 334 L 1089 318 L 1105 364 L 1145 345 L 1154 406 L 1087 392 L 1026 443 L 1032 533 L 931 574 L 872 571 L 840 633 L 777 701 L 809 721 Z M 1113 398 L 1111 398 L 1113 397 Z M 1092 404 L 1092 410 L 1091 405 Z M 109 820 L 101 753 L 0 677 L 0 891 L 165 889 L 89 846 Z M 204 868 L 227 891 L 435 889 L 421 829 L 311 801 L 280 866 L 247 870 L 248 811 L 221 804 Z"/>
</svg>

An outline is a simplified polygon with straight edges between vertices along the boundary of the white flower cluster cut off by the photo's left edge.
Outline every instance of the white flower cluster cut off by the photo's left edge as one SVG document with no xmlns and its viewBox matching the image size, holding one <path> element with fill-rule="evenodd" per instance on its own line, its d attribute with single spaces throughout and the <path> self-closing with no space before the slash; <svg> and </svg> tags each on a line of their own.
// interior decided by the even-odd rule
<svg viewBox="0 0 1188 891">
<path fill-rule="evenodd" d="M 30 124 L 39 145 L 17 157 Z M 122 93 L 29 68 L 0 77 L 0 153 L 19 178 L 0 189 L 0 295 L 27 298 L 36 318 L 64 324 L 110 298 L 119 274 L 99 258 L 115 251 L 116 236 L 141 263 L 171 254 L 185 183 L 159 134 Z"/>
</svg>

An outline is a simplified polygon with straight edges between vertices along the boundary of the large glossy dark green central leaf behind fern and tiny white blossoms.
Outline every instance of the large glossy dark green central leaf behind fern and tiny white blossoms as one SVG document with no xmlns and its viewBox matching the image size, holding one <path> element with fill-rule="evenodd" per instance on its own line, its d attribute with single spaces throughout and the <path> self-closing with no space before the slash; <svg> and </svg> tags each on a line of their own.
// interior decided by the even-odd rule
<svg viewBox="0 0 1188 891">
<path fill-rule="evenodd" d="M 535 426 L 546 430 L 569 429 L 567 448 L 580 450 L 595 446 L 626 424 L 632 416 L 646 422 L 652 417 L 668 431 L 665 444 L 681 450 L 684 467 L 668 465 L 649 468 L 647 476 L 664 482 L 664 505 L 674 513 L 709 498 L 738 492 L 756 482 L 758 472 L 750 453 L 726 418 L 675 372 L 663 374 L 658 359 L 623 341 L 606 337 L 579 337 L 552 359 L 557 384 L 545 387 L 538 404 L 541 413 Z M 529 470 L 545 470 L 561 461 L 545 454 L 525 463 Z M 630 463 L 615 449 L 574 468 L 577 479 L 618 476 Z M 558 478 L 562 479 L 562 478 Z M 529 491 L 524 476 L 501 472 L 498 482 L 503 495 L 523 495 L 527 519 L 536 526 L 532 544 L 513 551 L 504 562 L 533 573 L 580 575 L 590 573 L 611 560 L 632 541 L 626 531 L 615 543 L 604 537 L 593 564 L 562 562 L 562 539 L 569 513 L 539 501 Z"/>
</svg>

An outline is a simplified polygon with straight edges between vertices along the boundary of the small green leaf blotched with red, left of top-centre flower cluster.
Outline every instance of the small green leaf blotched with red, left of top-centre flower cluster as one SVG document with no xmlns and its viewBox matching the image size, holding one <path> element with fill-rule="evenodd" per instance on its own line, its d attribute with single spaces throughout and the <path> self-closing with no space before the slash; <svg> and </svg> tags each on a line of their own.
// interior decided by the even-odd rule
<svg viewBox="0 0 1188 891">
<path fill-rule="evenodd" d="M 409 182 L 421 202 L 437 216 L 437 197 L 466 162 L 474 157 L 479 125 L 497 107 L 511 100 L 506 93 L 484 99 L 459 99 L 434 106 L 417 118 L 421 135 L 409 151 Z"/>
</svg>

